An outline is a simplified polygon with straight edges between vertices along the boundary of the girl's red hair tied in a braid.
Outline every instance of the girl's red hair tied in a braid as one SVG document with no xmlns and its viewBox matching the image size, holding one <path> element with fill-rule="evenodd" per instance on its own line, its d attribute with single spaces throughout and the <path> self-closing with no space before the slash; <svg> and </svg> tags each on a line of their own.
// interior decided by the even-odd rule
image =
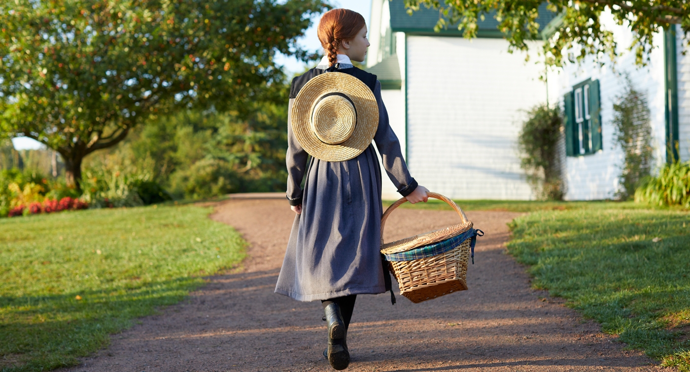
<svg viewBox="0 0 690 372">
<path fill-rule="evenodd" d="M 331 66 L 337 62 L 338 49 L 342 42 L 355 39 L 357 32 L 365 25 L 362 14 L 349 9 L 329 10 L 321 17 L 317 34 Z"/>
</svg>

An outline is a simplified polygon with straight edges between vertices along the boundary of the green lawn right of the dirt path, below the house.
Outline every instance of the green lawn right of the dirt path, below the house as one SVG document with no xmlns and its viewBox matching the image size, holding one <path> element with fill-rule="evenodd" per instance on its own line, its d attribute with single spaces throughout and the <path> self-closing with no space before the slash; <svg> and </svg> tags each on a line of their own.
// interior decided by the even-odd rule
<svg viewBox="0 0 690 372">
<path fill-rule="evenodd" d="M 566 298 L 604 332 L 690 371 L 690 214 L 631 203 L 535 211 L 508 249 L 533 285 Z"/>
</svg>

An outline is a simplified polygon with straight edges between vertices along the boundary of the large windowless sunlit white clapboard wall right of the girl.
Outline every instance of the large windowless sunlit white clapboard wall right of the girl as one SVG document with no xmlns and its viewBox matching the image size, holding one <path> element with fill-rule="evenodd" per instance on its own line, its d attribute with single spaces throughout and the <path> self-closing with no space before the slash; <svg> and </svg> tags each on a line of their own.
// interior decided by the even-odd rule
<svg viewBox="0 0 690 372">
<path fill-rule="evenodd" d="M 533 198 L 516 140 L 520 110 L 546 101 L 543 65 L 510 54 L 502 39 L 408 36 L 406 54 L 408 165 L 417 182 L 451 198 Z"/>
</svg>

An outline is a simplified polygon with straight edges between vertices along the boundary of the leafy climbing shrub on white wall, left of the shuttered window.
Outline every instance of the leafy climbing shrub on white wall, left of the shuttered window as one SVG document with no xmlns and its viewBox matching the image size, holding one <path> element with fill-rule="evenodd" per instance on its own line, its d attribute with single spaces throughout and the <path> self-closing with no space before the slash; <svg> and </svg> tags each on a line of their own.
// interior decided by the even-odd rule
<svg viewBox="0 0 690 372">
<path fill-rule="evenodd" d="M 517 136 L 520 167 L 538 198 L 561 200 L 563 187 L 558 141 L 563 119 L 560 108 L 537 105 L 527 112 L 527 116 Z"/>
</svg>

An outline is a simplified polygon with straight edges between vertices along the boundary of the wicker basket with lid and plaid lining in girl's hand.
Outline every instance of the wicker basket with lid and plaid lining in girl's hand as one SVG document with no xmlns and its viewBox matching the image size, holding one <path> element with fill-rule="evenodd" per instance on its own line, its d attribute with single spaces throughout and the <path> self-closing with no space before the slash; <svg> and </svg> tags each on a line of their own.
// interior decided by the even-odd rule
<svg viewBox="0 0 690 372">
<path fill-rule="evenodd" d="M 427 195 L 448 203 L 462 223 L 384 243 L 386 218 L 407 199 L 397 200 L 381 218 L 381 253 L 400 285 L 400 294 L 414 303 L 467 289 L 467 263 L 470 257 L 474 263 L 476 237 L 484 235 L 481 230 L 473 229 L 464 211 L 453 200 L 433 192 Z"/>
</svg>

